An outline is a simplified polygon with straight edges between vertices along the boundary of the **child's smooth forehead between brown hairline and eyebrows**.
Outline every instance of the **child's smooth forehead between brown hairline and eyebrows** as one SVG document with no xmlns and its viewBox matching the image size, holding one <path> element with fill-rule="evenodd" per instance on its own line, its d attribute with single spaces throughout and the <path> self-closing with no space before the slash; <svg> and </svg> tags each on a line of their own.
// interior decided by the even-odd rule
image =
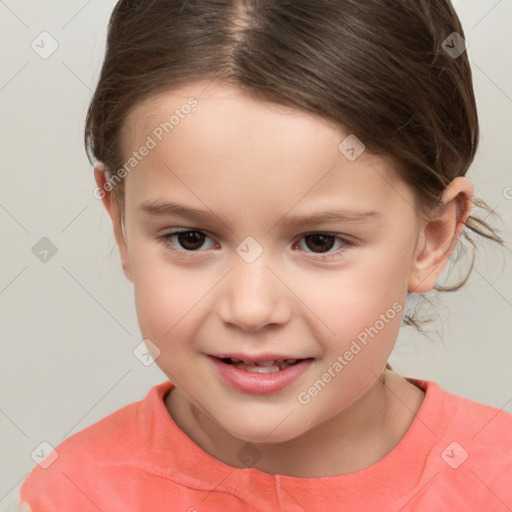
<svg viewBox="0 0 512 512">
<path fill-rule="evenodd" d="M 127 117 L 126 158 L 149 139 L 152 147 L 127 177 L 127 189 L 139 203 L 174 192 L 196 205 L 199 197 L 240 207 L 259 199 L 274 209 L 324 199 L 366 209 L 397 197 L 412 204 L 389 159 L 363 152 L 350 161 L 340 152 L 348 135 L 319 116 L 235 86 L 198 82 L 150 97 Z"/>
</svg>

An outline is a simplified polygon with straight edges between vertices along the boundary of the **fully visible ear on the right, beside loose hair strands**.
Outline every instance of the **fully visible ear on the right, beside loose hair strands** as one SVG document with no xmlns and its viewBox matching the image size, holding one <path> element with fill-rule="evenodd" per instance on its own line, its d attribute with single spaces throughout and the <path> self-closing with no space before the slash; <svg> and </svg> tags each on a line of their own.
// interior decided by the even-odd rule
<svg viewBox="0 0 512 512">
<path fill-rule="evenodd" d="M 421 221 L 409 275 L 410 292 L 425 293 L 436 284 L 464 228 L 472 198 L 473 185 L 459 176 L 446 187 L 429 218 Z"/>
</svg>

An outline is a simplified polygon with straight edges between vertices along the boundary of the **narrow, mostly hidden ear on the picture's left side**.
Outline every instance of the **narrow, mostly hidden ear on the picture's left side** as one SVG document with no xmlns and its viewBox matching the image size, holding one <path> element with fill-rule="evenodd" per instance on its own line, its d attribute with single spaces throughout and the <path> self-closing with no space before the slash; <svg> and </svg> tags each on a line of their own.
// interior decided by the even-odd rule
<svg viewBox="0 0 512 512">
<path fill-rule="evenodd" d="M 121 212 L 117 202 L 117 198 L 112 192 L 112 187 L 108 181 L 108 174 L 105 165 L 102 162 L 94 166 L 94 179 L 98 187 L 95 196 L 101 199 L 103 206 L 107 210 L 112 227 L 114 228 L 114 236 L 117 248 L 121 256 L 121 264 L 123 266 L 124 275 L 133 283 L 130 259 L 128 257 L 127 241 L 124 229 L 124 219 L 121 218 Z M 98 193 L 98 195 L 96 195 Z"/>
</svg>

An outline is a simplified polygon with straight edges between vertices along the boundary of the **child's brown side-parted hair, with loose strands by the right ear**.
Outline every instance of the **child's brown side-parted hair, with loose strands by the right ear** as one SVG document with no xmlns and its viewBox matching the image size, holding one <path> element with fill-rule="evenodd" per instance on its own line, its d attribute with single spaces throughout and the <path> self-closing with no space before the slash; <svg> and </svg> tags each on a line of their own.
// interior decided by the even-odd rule
<svg viewBox="0 0 512 512">
<path fill-rule="evenodd" d="M 449 0 L 121 0 L 85 127 L 85 145 L 112 175 L 125 163 L 121 132 L 143 100 L 187 83 L 220 79 L 254 97 L 334 121 L 370 153 L 388 156 L 428 215 L 468 171 L 479 125 L 467 53 L 442 47 L 464 37 Z M 114 189 L 121 214 L 124 186 Z M 473 199 L 461 239 L 504 245 Z M 415 315 L 404 323 L 421 331 Z"/>
</svg>

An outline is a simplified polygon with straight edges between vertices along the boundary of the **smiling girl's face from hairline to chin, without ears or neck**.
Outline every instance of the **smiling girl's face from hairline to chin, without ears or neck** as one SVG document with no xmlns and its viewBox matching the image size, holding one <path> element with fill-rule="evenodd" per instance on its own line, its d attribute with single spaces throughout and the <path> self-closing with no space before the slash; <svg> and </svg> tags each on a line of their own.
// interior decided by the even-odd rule
<svg viewBox="0 0 512 512">
<path fill-rule="evenodd" d="M 291 440 L 382 374 L 422 230 L 390 163 L 340 147 L 350 133 L 206 85 L 127 119 L 123 264 L 182 397 L 239 439 Z"/>
</svg>

